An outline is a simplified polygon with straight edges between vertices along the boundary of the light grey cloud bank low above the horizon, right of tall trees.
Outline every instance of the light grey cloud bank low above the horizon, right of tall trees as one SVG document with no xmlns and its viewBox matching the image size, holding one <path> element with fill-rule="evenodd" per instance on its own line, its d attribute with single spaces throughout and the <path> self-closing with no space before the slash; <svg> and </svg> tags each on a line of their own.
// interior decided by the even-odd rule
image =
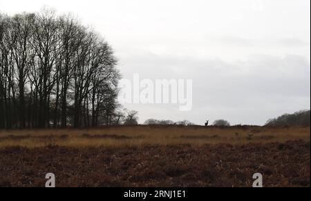
<svg viewBox="0 0 311 201">
<path fill-rule="evenodd" d="M 141 78 L 194 80 L 191 112 L 178 112 L 173 105 L 133 106 L 143 108 L 142 121 L 161 118 L 152 112 L 158 109 L 167 111 L 166 116 L 171 114 L 173 120 L 188 117 L 198 124 L 209 116 L 227 118 L 232 123 L 262 125 L 282 112 L 310 108 L 310 62 L 303 56 L 254 55 L 248 61 L 236 63 L 146 52 L 140 56 L 124 58 L 122 72 L 128 78 L 138 72 Z"/>
</svg>

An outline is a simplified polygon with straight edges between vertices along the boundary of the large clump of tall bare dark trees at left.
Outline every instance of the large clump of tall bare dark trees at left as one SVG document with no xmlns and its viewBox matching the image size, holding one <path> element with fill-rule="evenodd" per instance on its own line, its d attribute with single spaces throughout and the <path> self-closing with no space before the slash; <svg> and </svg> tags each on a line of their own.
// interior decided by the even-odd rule
<svg viewBox="0 0 311 201">
<path fill-rule="evenodd" d="M 0 129 L 120 123 L 116 65 L 111 46 L 70 14 L 0 14 Z"/>
</svg>

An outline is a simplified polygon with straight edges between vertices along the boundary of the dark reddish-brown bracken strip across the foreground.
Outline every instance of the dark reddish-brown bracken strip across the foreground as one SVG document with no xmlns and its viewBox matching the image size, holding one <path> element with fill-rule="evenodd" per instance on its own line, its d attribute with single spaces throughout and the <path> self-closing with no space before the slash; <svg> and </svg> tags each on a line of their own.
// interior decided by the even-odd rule
<svg viewBox="0 0 311 201">
<path fill-rule="evenodd" d="M 310 142 L 0 149 L 0 187 L 310 187 Z"/>
</svg>

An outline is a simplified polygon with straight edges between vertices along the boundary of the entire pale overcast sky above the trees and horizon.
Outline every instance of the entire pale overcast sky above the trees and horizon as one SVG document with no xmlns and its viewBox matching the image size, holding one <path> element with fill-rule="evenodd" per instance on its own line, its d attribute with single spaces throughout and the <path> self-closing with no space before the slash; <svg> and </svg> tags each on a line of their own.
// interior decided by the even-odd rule
<svg viewBox="0 0 311 201">
<path fill-rule="evenodd" d="M 263 125 L 310 109 L 310 0 L 0 0 L 0 12 L 73 12 L 124 78 L 191 78 L 194 107 L 125 105 L 147 118 Z"/>
</svg>

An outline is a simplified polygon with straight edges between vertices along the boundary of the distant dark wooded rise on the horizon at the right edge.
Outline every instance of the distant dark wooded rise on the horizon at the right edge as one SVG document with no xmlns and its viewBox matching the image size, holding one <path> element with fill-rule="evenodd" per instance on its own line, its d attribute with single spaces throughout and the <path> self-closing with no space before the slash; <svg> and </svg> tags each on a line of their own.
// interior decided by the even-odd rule
<svg viewBox="0 0 311 201">
<path fill-rule="evenodd" d="M 266 126 L 301 126 L 310 127 L 310 110 L 295 112 L 294 114 L 283 114 L 278 118 L 272 118 L 267 121 Z"/>
</svg>

